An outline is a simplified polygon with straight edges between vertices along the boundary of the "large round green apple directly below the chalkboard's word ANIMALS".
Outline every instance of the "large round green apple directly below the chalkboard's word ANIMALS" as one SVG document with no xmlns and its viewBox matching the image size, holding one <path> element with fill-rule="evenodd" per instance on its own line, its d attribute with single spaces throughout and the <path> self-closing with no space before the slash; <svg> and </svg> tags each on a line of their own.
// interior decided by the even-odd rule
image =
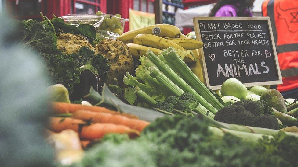
<svg viewBox="0 0 298 167">
<path fill-rule="evenodd" d="M 247 88 L 236 78 L 227 79 L 221 86 L 222 96 L 235 96 L 238 99 L 245 99 Z"/>
</svg>

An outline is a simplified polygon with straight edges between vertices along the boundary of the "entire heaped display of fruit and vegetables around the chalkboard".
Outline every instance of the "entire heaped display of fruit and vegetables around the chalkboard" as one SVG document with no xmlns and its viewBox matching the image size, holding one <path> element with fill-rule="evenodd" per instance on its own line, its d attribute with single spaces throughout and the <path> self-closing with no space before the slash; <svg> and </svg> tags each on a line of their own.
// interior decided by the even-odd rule
<svg viewBox="0 0 298 167">
<path fill-rule="evenodd" d="M 42 17 L 18 22 L 19 43 L 37 52 L 54 83 L 44 90 L 43 129 L 56 165 L 298 165 L 297 100 L 235 78 L 213 92 L 202 43 L 177 27 L 99 40 L 91 24 Z M 118 17 L 105 17 L 100 29 L 122 33 Z"/>
</svg>

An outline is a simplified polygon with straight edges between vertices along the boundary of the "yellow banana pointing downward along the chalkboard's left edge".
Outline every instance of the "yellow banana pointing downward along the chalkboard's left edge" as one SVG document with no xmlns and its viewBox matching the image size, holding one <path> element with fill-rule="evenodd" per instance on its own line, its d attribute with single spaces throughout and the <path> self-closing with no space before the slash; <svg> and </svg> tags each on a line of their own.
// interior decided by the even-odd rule
<svg viewBox="0 0 298 167">
<path fill-rule="evenodd" d="M 197 62 L 195 64 L 190 64 L 189 68 L 205 84 L 205 74 L 204 74 L 201 54 L 199 54 L 198 50 L 192 50 L 192 51 L 194 52 L 194 55 L 197 58 Z"/>
</svg>

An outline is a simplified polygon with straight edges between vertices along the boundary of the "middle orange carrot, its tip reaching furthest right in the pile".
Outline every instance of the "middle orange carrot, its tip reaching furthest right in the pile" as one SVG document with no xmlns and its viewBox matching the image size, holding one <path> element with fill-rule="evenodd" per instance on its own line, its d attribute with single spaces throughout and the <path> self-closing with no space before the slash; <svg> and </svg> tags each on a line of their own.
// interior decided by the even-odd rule
<svg viewBox="0 0 298 167">
<path fill-rule="evenodd" d="M 88 110 L 78 110 L 72 113 L 72 117 L 81 120 L 91 120 L 98 123 L 113 123 L 128 126 L 141 132 L 150 123 L 147 121 L 128 118 L 119 114 L 98 113 Z"/>
</svg>

